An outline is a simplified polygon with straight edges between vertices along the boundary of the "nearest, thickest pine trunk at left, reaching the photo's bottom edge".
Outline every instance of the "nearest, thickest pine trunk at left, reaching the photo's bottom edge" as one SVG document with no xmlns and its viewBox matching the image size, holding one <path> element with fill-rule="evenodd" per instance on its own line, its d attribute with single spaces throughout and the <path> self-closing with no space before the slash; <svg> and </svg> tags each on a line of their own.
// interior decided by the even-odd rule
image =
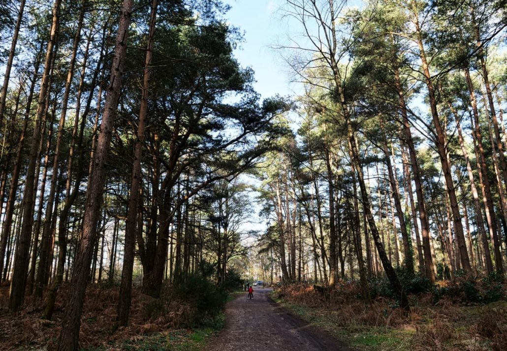
<svg viewBox="0 0 507 351">
<path fill-rule="evenodd" d="M 62 329 L 58 340 L 59 351 L 74 351 L 78 349 L 79 329 L 81 325 L 81 311 L 83 299 L 90 270 L 92 250 L 97 236 L 96 224 L 100 212 L 102 200 L 102 188 L 105 182 L 105 164 L 111 142 L 111 134 L 118 108 L 124 59 L 127 49 L 127 33 L 130 25 L 130 15 L 133 1 L 124 0 L 118 36 L 115 45 L 115 56 L 111 70 L 110 86 L 104 105 L 100 134 L 98 138 L 97 152 L 91 176 L 91 186 L 87 191 L 85 204 L 83 233 L 80 240 L 74 272 L 71 279 L 71 288 L 67 308 L 62 320 Z"/>
</svg>

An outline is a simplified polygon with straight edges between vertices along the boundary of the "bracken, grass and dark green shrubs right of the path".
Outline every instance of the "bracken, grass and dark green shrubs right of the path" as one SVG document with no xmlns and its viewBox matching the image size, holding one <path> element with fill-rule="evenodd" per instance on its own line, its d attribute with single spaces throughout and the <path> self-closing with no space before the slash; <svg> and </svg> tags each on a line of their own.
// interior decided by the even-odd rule
<svg viewBox="0 0 507 351">
<path fill-rule="evenodd" d="M 280 285 L 273 299 L 316 327 L 364 350 L 475 351 L 507 349 L 505 287 L 495 276 L 432 286 L 423 277 L 401 276 L 412 305 L 397 307 L 385 279 L 370 282 L 371 300 L 358 282 L 336 289 Z"/>
</svg>

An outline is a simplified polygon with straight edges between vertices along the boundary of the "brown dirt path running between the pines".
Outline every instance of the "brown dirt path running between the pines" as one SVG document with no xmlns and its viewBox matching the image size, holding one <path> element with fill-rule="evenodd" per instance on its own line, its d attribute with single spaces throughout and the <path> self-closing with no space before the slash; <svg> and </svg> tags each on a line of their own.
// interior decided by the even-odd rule
<svg viewBox="0 0 507 351">
<path fill-rule="evenodd" d="M 262 349 L 273 351 L 340 350 L 351 348 L 307 322 L 287 313 L 268 294 L 271 289 L 255 289 L 227 304 L 227 328 L 211 341 L 210 351 Z"/>
</svg>

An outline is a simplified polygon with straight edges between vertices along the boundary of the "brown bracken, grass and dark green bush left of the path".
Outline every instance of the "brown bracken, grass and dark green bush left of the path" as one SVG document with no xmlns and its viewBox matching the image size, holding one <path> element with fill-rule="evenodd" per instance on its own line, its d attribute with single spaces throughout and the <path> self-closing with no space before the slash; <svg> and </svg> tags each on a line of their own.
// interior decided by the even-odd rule
<svg viewBox="0 0 507 351">
<path fill-rule="evenodd" d="M 44 301 L 31 297 L 20 313 L 11 314 L 4 299 L 9 288 L 0 287 L 0 349 L 55 349 L 68 288 L 62 286 L 53 321 L 46 321 L 41 319 Z M 88 287 L 80 330 L 83 350 L 200 350 L 225 326 L 227 294 L 203 276 L 165 286 L 158 299 L 134 289 L 127 327 L 115 327 L 118 297 L 118 286 Z"/>
</svg>

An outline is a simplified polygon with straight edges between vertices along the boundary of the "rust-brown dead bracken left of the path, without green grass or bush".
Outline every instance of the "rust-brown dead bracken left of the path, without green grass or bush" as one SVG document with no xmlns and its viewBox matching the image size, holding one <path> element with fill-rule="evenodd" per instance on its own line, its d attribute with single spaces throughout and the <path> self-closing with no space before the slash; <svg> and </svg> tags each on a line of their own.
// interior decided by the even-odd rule
<svg viewBox="0 0 507 351">
<path fill-rule="evenodd" d="M 25 348 L 54 349 L 60 332 L 63 317 L 63 303 L 68 285 L 64 285 L 58 295 L 53 321 L 40 318 L 44 303 L 34 303 L 27 297 L 25 308 L 17 314 L 7 309 L 9 286 L 0 287 L 0 349 L 15 350 Z M 119 288 L 104 285 L 91 285 L 87 289 L 81 319 L 80 346 L 92 348 L 119 340 L 133 340 L 139 335 L 179 328 L 191 315 L 191 307 L 180 301 L 163 301 L 134 290 L 130 324 L 116 328 L 116 306 Z"/>
</svg>

